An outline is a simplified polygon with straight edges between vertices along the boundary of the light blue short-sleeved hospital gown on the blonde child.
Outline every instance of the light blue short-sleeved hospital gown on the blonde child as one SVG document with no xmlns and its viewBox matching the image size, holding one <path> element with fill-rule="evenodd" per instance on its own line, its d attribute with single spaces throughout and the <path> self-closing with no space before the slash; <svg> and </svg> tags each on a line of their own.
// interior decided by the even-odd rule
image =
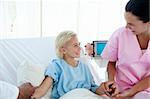
<svg viewBox="0 0 150 99">
<path fill-rule="evenodd" d="M 80 61 L 77 67 L 72 67 L 63 59 L 54 59 L 46 69 L 45 76 L 54 79 L 51 99 L 58 99 L 75 88 L 86 88 L 92 92 L 98 88 L 88 66 Z"/>
</svg>

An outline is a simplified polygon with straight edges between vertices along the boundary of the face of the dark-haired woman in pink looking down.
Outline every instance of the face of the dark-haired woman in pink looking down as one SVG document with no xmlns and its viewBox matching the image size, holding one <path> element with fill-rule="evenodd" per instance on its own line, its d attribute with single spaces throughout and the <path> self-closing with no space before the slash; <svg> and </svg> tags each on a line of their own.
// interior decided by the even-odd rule
<svg viewBox="0 0 150 99">
<path fill-rule="evenodd" d="M 127 22 L 126 28 L 129 28 L 135 35 L 149 32 L 150 22 L 143 23 L 131 12 L 125 12 L 125 19 Z"/>
</svg>

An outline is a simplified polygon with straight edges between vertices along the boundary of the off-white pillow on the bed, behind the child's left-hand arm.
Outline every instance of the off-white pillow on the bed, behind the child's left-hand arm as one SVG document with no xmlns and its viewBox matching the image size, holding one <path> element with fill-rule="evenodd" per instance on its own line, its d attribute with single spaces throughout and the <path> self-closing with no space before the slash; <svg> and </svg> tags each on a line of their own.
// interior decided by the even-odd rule
<svg viewBox="0 0 150 99">
<path fill-rule="evenodd" d="M 44 72 L 48 65 L 35 64 L 28 61 L 23 61 L 17 68 L 17 84 L 18 86 L 30 82 L 33 86 L 38 86 L 44 79 Z M 42 99 L 50 99 L 50 90 Z"/>
</svg>

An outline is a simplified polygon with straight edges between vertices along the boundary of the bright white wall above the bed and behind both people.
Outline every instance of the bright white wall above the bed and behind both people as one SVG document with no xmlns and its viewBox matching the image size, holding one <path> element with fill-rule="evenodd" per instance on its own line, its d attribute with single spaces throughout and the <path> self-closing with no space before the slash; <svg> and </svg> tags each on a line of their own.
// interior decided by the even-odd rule
<svg viewBox="0 0 150 99">
<path fill-rule="evenodd" d="M 81 42 L 108 39 L 125 24 L 128 0 L 0 0 L 0 39 L 78 33 Z"/>
</svg>

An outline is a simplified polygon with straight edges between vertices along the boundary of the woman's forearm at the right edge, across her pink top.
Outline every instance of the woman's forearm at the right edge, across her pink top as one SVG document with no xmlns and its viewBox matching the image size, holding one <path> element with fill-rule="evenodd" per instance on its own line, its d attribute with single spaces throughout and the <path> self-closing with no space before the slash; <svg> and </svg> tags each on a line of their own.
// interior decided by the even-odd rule
<svg viewBox="0 0 150 99">
<path fill-rule="evenodd" d="M 144 78 L 143 80 L 139 81 L 136 85 L 132 87 L 132 90 L 135 91 L 135 93 L 143 91 L 150 87 L 150 76 Z"/>
</svg>

